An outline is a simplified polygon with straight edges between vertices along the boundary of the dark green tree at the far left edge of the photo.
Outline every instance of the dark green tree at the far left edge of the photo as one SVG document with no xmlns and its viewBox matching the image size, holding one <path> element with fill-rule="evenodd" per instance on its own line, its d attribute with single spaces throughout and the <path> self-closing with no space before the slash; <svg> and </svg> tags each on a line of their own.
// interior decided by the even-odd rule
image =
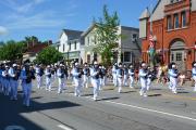
<svg viewBox="0 0 196 130">
<path fill-rule="evenodd" d="M 25 44 L 23 42 L 16 42 L 10 40 L 0 48 L 0 60 L 15 61 L 23 57 L 25 51 Z"/>
</svg>

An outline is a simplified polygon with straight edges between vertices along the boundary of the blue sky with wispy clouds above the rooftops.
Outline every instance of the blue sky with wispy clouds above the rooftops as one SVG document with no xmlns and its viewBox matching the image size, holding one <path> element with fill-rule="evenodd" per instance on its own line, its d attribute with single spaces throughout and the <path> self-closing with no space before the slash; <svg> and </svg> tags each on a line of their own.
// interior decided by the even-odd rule
<svg viewBox="0 0 196 130">
<path fill-rule="evenodd" d="M 138 27 L 138 17 L 157 0 L 0 0 L 0 41 L 36 36 L 57 42 L 62 29 L 85 31 L 102 17 L 102 6 L 118 12 L 120 24 Z"/>
</svg>

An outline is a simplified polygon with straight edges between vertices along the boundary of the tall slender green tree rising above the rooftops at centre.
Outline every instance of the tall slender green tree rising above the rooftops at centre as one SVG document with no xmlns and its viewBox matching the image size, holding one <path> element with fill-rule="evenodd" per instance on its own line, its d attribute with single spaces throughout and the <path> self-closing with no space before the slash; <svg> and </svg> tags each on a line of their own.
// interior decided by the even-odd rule
<svg viewBox="0 0 196 130">
<path fill-rule="evenodd" d="M 118 13 L 108 13 L 107 5 L 103 6 L 103 17 L 96 22 L 96 35 L 97 35 L 97 46 L 94 51 L 101 55 L 102 64 L 110 65 L 111 57 L 113 56 L 112 50 L 118 48 L 118 40 L 121 37 L 118 35 L 118 27 L 120 25 L 120 20 Z"/>
</svg>

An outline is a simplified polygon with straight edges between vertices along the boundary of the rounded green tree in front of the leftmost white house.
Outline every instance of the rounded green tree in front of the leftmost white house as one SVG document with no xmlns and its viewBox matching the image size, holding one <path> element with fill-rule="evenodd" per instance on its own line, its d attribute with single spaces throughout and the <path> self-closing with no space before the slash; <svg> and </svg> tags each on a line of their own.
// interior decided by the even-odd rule
<svg viewBox="0 0 196 130">
<path fill-rule="evenodd" d="M 63 60 L 61 52 L 56 50 L 53 47 L 47 47 L 36 56 L 35 63 L 50 65 Z"/>
</svg>

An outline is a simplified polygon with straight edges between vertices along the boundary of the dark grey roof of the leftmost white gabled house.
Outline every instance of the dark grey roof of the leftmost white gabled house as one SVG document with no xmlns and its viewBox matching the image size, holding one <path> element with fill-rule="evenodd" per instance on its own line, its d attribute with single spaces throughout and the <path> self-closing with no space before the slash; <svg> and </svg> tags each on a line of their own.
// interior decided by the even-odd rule
<svg viewBox="0 0 196 130">
<path fill-rule="evenodd" d="M 60 37 L 62 36 L 63 32 L 66 34 L 70 40 L 79 39 L 81 35 L 83 34 L 83 31 L 81 30 L 62 29 Z"/>
</svg>

